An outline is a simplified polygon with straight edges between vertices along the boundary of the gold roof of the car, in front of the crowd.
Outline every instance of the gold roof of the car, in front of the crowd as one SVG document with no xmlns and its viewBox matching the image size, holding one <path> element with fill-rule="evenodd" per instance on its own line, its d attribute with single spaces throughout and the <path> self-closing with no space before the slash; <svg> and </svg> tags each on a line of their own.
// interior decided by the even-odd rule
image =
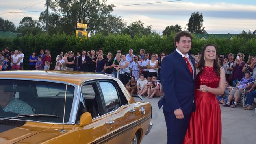
<svg viewBox="0 0 256 144">
<path fill-rule="evenodd" d="M 62 81 L 75 85 L 82 85 L 84 81 L 93 79 L 114 79 L 103 74 L 76 72 L 76 71 L 55 71 L 55 70 L 15 70 L 2 71 L 0 78 L 17 79 L 40 79 L 48 81 Z"/>
</svg>

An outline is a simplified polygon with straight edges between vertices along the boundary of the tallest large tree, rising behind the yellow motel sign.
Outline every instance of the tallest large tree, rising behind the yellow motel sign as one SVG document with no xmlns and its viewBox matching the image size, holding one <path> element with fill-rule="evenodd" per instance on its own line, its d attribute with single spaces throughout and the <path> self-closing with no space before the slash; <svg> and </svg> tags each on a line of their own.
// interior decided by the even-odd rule
<svg viewBox="0 0 256 144">
<path fill-rule="evenodd" d="M 111 14 L 113 7 L 114 5 L 106 5 L 106 0 L 50 0 L 49 8 L 55 14 L 50 14 L 54 20 L 49 25 L 54 27 L 53 22 L 58 21 L 56 27 L 62 27 L 61 30 L 71 34 L 76 30 L 76 22 L 82 19 L 83 23 L 87 23 L 87 31 L 94 33 L 100 27 L 102 19 Z M 40 17 L 40 21 L 45 24 L 45 13 L 41 13 Z"/>
</svg>

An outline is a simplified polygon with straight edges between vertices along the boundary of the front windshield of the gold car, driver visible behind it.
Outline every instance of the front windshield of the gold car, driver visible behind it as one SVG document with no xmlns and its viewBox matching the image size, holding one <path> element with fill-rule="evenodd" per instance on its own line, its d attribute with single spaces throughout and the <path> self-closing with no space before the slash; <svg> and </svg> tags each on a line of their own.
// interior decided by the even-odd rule
<svg viewBox="0 0 256 144">
<path fill-rule="evenodd" d="M 0 80 L 0 118 L 14 117 L 18 114 L 48 114 L 49 116 L 31 116 L 17 119 L 42 122 L 63 122 L 66 93 L 65 120 L 69 121 L 74 86 L 63 83 Z"/>
</svg>

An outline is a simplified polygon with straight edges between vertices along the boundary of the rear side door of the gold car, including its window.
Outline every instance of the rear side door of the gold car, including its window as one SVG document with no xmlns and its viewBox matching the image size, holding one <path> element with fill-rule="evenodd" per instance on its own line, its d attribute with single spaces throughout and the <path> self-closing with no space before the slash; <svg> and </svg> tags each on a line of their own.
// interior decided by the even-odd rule
<svg viewBox="0 0 256 144">
<path fill-rule="evenodd" d="M 128 104 L 124 94 L 115 81 L 99 81 L 106 112 L 112 116 L 115 125 L 115 142 L 128 144 L 134 135 L 136 113 L 139 109 Z"/>
</svg>

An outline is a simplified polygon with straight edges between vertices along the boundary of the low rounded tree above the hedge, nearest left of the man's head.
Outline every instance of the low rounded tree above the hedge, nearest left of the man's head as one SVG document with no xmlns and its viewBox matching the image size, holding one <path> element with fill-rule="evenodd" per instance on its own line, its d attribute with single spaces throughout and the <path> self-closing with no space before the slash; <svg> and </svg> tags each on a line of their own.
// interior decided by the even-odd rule
<svg viewBox="0 0 256 144">
<path fill-rule="evenodd" d="M 125 28 L 122 33 L 130 35 L 132 38 L 136 34 L 142 34 L 142 35 L 148 35 L 148 34 L 153 34 L 154 31 L 152 31 L 152 26 L 143 26 L 143 22 L 136 21 L 132 22 L 127 28 Z"/>
</svg>

